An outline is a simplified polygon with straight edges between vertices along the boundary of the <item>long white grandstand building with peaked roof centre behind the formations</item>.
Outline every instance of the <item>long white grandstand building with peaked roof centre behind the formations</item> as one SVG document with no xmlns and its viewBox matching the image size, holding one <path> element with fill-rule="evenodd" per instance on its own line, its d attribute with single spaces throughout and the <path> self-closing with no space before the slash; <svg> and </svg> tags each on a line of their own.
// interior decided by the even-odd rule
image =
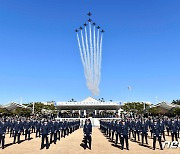
<svg viewBox="0 0 180 154">
<path fill-rule="evenodd" d="M 70 114 L 76 113 L 79 117 L 96 117 L 97 115 L 101 115 L 102 112 L 111 112 L 120 115 L 122 111 L 121 103 L 119 102 L 100 101 L 93 97 L 88 97 L 80 102 L 56 102 L 56 108 L 60 114 L 68 111 Z"/>
</svg>

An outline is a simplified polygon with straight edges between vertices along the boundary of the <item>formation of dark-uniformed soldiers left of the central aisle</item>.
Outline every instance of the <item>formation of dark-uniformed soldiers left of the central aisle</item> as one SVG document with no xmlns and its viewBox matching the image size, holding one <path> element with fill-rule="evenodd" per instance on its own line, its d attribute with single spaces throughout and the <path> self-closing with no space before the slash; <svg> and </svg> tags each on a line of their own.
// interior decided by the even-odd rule
<svg viewBox="0 0 180 154">
<path fill-rule="evenodd" d="M 51 143 L 56 144 L 57 140 L 66 137 L 79 129 L 80 120 L 55 120 L 55 119 L 29 119 L 29 118 L 8 118 L 0 119 L 0 144 L 5 148 L 5 137 L 7 134 L 13 137 L 13 143 L 20 144 L 22 137 L 30 140 L 31 134 L 41 137 L 41 149 L 49 148 Z M 46 143 L 45 143 L 46 142 Z"/>
</svg>

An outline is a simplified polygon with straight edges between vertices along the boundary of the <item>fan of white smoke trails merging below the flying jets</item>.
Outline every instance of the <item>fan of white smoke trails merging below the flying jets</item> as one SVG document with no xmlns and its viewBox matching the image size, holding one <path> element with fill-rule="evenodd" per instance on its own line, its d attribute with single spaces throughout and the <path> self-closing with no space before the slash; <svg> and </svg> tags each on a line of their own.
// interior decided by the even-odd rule
<svg viewBox="0 0 180 154">
<path fill-rule="evenodd" d="M 87 87 L 93 95 L 98 95 L 101 78 L 103 32 L 100 32 L 99 27 L 96 30 L 95 24 L 93 25 L 94 27 L 89 22 L 88 31 L 87 25 L 85 25 L 84 30 L 80 30 L 81 41 L 78 33 L 77 40 Z"/>
</svg>

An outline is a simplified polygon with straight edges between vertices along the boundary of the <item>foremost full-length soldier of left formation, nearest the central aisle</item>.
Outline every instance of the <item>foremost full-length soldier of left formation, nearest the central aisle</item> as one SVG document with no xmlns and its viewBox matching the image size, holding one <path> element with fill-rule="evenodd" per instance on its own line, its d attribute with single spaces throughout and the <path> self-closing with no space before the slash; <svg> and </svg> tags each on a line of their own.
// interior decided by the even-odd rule
<svg viewBox="0 0 180 154">
<path fill-rule="evenodd" d="M 42 125 L 41 125 L 41 149 L 44 148 L 44 140 L 46 140 L 46 149 L 49 148 L 49 142 L 48 142 L 48 135 L 49 135 L 49 127 L 47 125 L 47 121 L 45 121 Z"/>
</svg>

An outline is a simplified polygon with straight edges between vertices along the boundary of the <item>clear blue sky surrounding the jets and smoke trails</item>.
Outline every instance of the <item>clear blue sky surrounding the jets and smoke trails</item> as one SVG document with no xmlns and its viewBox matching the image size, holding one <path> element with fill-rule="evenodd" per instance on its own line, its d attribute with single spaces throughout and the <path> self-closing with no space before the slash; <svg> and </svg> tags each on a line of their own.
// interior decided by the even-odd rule
<svg viewBox="0 0 180 154">
<path fill-rule="evenodd" d="M 0 0 L 0 103 L 91 95 L 74 32 L 89 11 L 106 31 L 98 97 L 180 99 L 179 8 L 179 0 Z"/>
</svg>

